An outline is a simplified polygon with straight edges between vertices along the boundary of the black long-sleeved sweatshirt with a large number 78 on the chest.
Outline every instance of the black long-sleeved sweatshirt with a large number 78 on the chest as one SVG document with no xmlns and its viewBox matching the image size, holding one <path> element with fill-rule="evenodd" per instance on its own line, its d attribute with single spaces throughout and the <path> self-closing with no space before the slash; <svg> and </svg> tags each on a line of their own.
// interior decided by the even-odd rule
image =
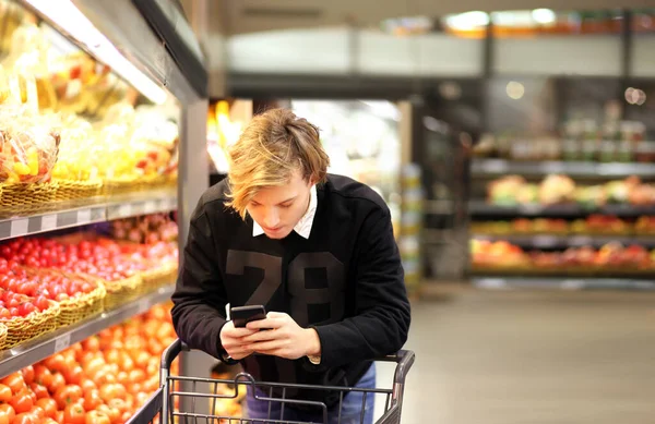
<svg viewBox="0 0 655 424">
<path fill-rule="evenodd" d="M 210 187 L 191 218 L 172 295 L 181 340 L 221 358 L 225 305 L 263 304 L 315 328 L 321 364 L 255 354 L 241 361 L 243 370 L 263 381 L 337 386 L 354 386 L 372 359 L 403 347 L 409 302 L 389 208 L 376 192 L 330 174 L 317 186 L 309 239 L 291 231 L 272 240 L 253 237 L 252 219 L 225 206 L 227 190 L 226 181 Z M 338 401 L 315 390 L 286 396 Z"/>
</svg>

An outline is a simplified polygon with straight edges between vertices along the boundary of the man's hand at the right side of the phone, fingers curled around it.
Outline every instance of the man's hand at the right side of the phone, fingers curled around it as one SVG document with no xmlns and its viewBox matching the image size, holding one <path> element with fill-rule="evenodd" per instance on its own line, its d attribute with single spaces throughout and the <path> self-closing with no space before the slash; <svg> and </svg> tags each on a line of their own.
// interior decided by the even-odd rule
<svg viewBox="0 0 655 424">
<path fill-rule="evenodd" d="M 321 341 L 312 328 L 302 328 L 288 314 L 270 312 L 265 319 L 248 323 L 247 328 L 258 331 L 243 337 L 248 349 L 266 355 L 297 360 L 321 354 Z"/>
</svg>

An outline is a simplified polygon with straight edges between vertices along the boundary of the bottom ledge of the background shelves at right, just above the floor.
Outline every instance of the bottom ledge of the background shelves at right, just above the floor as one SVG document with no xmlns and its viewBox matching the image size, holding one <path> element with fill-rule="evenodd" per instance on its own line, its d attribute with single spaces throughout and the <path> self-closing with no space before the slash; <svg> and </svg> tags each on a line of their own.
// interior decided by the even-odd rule
<svg viewBox="0 0 655 424">
<path fill-rule="evenodd" d="M 561 289 L 561 290 L 644 290 L 654 291 L 655 281 L 627 278 L 557 278 L 557 277 L 474 277 L 480 289 Z"/>
</svg>

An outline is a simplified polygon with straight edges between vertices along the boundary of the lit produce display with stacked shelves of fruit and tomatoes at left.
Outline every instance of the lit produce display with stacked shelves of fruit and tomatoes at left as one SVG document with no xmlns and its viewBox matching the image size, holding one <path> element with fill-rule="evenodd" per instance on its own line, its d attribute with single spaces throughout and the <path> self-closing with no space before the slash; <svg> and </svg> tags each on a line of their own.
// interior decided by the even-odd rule
<svg viewBox="0 0 655 424">
<path fill-rule="evenodd" d="M 168 1 L 1 0 L 0 22 L 0 421 L 127 422 L 206 185 L 202 57 Z"/>
</svg>

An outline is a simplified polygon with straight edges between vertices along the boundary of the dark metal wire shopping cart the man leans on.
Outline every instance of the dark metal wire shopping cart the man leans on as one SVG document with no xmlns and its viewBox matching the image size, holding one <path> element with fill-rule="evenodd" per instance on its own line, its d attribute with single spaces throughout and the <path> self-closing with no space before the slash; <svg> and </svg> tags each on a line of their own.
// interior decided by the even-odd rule
<svg viewBox="0 0 655 424">
<path fill-rule="evenodd" d="M 187 347 L 180 340 L 176 340 L 164 351 L 159 370 L 160 387 L 134 414 L 134 416 L 132 416 L 128 424 L 309 424 L 307 422 L 285 421 L 284 408 L 287 405 L 318 408 L 318 410 L 322 410 L 323 415 L 323 420 L 320 423 L 327 424 L 329 409 L 325 403 L 286 398 L 287 390 L 298 389 L 329 390 L 337 393 L 340 402 L 336 408 L 338 408 L 338 411 L 342 409 L 345 395 L 348 392 L 361 392 L 362 404 L 361 417 L 359 420 L 360 423 L 364 422 L 367 397 L 382 396 L 385 398 L 384 413 L 376 424 L 400 424 L 405 377 L 414 364 L 415 359 L 414 352 L 400 351 L 395 355 L 389 355 L 378 360 L 379 362 L 396 363 L 393 387 L 390 389 L 360 389 L 355 387 L 255 381 L 254 378 L 247 373 L 239 373 L 234 379 L 174 376 L 170 373 L 170 365 L 180 352 L 184 350 L 188 350 Z M 266 397 L 257 396 L 257 399 L 269 402 L 269 417 L 266 420 L 249 420 L 248 417 L 228 416 L 216 410 L 216 400 L 240 399 L 243 396 L 243 390 L 247 386 L 255 386 L 259 389 L 258 391 L 269 393 Z M 222 388 L 221 390 L 218 389 L 219 387 Z M 229 388 L 229 392 L 226 392 L 225 387 Z M 276 396 L 273 396 L 274 392 Z M 282 392 L 281 396 L 279 392 Z M 187 401 L 184 402 L 184 400 Z M 191 408 L 182 408 L 186 411 L 180 411 L 178 408 L 174 408 L 178 402 L 182 405 L 184 403 L 191 403 Z M 271 416 L 271 405 L 273 402 L 282 403 L 282 416 Z M 199 405 L 201 408 L 196 408 Z M 203 408 L 206 408 L 205 412 L 201 412 Z M 338 422 L 342 422 L 341 412 L 338 413 Z"/>
</svg>

